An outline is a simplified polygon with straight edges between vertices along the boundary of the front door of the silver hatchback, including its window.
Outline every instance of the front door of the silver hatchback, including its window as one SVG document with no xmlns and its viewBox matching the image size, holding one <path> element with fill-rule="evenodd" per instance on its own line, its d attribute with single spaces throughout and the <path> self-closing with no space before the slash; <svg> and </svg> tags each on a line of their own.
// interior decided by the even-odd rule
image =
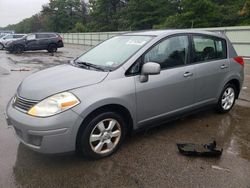
<svg viewBox="0 0 250 188">
<path fill-rule="evenodd" d="M 135 77 L 137 120 L 139 126 L 189 108 L 194 102 L 194 70 L 189 61 L 189 40 L 186 35 L 169 37 L 152 47 L 143 63 L 161 65 L 159 75 L 147 82 Z"/>
</svg>

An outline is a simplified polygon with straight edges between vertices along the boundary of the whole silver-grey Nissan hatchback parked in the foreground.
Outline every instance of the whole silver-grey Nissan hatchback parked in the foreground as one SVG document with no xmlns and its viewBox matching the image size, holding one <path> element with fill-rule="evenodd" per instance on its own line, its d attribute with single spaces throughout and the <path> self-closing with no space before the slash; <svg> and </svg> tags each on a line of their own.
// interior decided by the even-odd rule
<svg viewBox="0 0 250 188">
<path fill-rule="evenodd" d="M 35 151 L 102 158 L 133 130 L 207 105 L 230 111 L 243 68 L 221 34 L 127 33 L 25 78 L 7 106 L 7 122 Z"/>
</svg>

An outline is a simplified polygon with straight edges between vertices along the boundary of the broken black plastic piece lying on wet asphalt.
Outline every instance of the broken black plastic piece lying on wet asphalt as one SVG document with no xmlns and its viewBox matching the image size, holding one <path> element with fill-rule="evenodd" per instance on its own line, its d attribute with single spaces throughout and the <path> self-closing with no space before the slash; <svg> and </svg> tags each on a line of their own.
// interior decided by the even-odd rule
<svg viewBox="0 0 250 188">
<path fill-rule="evenodd" d="M 177 144 L 179 152 L 188 156 L 219 157 L 223 149 L 216 148 L 216 141 L 209 144 Z"/>
</svg>

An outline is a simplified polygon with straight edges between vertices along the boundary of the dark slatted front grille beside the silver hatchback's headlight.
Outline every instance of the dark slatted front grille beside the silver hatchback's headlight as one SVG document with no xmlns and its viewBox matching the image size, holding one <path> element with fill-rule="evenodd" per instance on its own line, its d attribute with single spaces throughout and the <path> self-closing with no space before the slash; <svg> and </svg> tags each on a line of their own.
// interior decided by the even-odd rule
<svg viewBox="0 0 250 188">
<path fill-rule="evenodd" d="M 13 106 L 16 109 L 21 110 L 23 112 L 28 112 L 29 109 L 31 109 L 35 104 L 37 104 L 37 101 L 24 99 L 17 95 L 14 97 L 14 101 L 13 101 Z"/>
</svg>

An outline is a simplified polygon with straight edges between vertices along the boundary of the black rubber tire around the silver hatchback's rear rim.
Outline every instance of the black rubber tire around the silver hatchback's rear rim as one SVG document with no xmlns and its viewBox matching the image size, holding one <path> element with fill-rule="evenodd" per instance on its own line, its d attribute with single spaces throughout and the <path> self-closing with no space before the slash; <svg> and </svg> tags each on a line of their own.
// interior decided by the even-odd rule
<svg viewBox="0 0 250 188">
<path fill-rule="evenodd" d="M 228 90 L 231 90 L 233 92 L 234 97 L 232 99 L 232 102 L 229 101 L 230 105 L 228 105 L 227 108 L 225 108 L 225 106 L 224 106 L 225 103 L 223 103 L 223 100 L 225 100 L 225 95 L 224 94 Z M 230 83 L 226 84 L 224 89 L 221 92 L 219 101 L 218 101 L 217 106 L 216 106 L 216 111 L 219 112 L 219 113 L 227 113 L 227 112 L 229 112 L 233 108 L 233 106 L 235 104 L 237 94 L 238 94 L 238 91 L 237 91 L 234 84 L 230 84 Z"/>
</svg>

